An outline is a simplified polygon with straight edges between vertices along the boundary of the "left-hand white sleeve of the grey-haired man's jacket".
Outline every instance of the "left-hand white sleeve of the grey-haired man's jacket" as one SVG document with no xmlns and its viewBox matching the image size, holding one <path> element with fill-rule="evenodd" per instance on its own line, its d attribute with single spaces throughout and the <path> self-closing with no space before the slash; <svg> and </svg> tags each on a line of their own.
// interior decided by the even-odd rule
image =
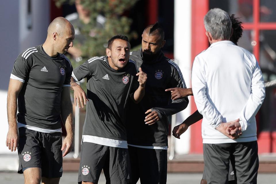
<svg viewBox="0 0 276 184">
<path fill-rule="evenodd" d="M 207 98 L 207 84 L 204 72 L 205 62 L 196 57 L 192 68 L 192 90 L 198 112 L 209 122 L 215 129 L 222 122 L 222 116 Z"/>
</svg>

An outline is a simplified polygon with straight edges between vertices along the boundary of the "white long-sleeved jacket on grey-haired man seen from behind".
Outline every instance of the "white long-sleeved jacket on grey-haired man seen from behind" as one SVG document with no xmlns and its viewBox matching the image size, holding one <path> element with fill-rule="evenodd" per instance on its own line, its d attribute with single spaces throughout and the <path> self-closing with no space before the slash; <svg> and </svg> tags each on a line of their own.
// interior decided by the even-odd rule
<svg viewBox="0 0 276 184">
<path fill-rule="evenodd" d="M 191 80 L 196 106 L 203 115 L 203 143 L 257 140 L 255 115 L 264 101 L 265 88 L 252 53 L 231 41 L 215 42 L 196 56 Z M 238 118 L 242 128 L 238 139 L 229 139 L 215 129 Z"/>
</svg>

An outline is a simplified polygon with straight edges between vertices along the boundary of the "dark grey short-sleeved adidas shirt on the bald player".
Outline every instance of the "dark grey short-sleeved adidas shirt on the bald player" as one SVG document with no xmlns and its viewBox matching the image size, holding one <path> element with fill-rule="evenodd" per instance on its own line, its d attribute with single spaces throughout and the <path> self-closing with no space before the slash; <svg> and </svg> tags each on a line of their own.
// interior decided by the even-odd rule
<svg viewBox="0 0 276 184">
<path fill-rule="evenodd" d="M 20 53 L 11 71 L 24 80 L 18 95 L 17 121 L 43 129 L 60 129 L 62 87 L 70 86 L 72 70 L 65 55 L 52 58 L 42 45 Z"/>
</svg>

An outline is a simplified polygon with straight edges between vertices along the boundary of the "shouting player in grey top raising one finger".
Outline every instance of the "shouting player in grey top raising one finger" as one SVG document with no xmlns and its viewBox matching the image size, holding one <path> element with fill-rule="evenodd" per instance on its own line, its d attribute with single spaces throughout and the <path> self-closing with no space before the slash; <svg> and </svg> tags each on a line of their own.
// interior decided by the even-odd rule
<svg viewBox="0 0 276 184">
<path fill-rule="evenodd" d="M 108 41 L 106 56 L 92 57 L 74 69 L 74 99 L 83 105 L 84 91 L 75 81 L 87 78 L 87 110 L 83 126 L 78 183 L 130 183 L 126 111 L 129 97 L 138 103 L 145 93 L 147 74 L 129 60 L 130 43 L 123 35 Z M 139 82 L 138 82 L 139 81 Z M 84 101 L 83 101 L 84 100 Z"/>
</svg>

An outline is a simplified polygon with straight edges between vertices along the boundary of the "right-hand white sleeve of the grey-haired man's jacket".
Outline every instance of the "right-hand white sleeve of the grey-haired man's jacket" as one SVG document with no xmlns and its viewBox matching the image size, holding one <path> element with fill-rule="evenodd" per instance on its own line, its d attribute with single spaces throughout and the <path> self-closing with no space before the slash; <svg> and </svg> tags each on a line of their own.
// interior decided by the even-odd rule
<svg viewBox="0 0 276 184">
<path fill-rule="evenodd" d="M 251 80 L 251 94 L 239 115 L 239 123 L 241 124 L 242 131 L 247 129 L 251 118 L 256 116 L 265 97 L 264 79 L 262 78 L 262 72 L 257 60 L 255 62 L 256 65 L 253 69 Z"/>
</svg>

